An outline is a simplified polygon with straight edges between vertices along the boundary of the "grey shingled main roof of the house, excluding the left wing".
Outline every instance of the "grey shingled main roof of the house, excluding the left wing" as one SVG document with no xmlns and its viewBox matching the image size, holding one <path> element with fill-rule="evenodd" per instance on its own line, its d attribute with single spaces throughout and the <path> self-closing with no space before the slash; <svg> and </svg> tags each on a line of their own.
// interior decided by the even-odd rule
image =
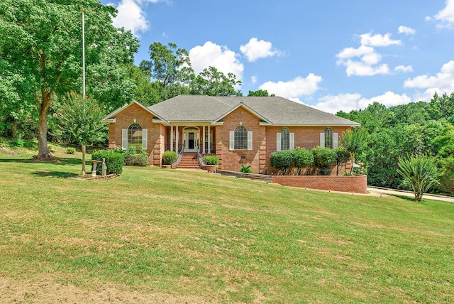
<svg viewBox="0 0 454 304">
<path fill-rule="evenodd" d="M 179 95 L 148 107 L 150 113 L 172 121 L 206 121 L 215 123 L 238 107 L 244 107 L 266 124 L 277 126 L 360 126 L 282 97 L 225 97 Z"/>
</svg>

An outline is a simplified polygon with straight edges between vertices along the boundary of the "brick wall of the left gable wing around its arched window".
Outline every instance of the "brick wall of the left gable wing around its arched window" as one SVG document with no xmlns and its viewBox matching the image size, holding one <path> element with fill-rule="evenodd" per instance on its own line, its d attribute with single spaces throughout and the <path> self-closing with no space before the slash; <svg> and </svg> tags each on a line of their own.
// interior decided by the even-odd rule
<svg viewBox="0 0 454 304">
<path fill-rule="evenodd" d="M 161 124 L 153 124 L 153 115 L 145 111 L 138 104 L 131 104 L 115 116 L 115 123 L 109 124 L 109 148 L 121 148 L 121 130 L 128 129 L 128 126 L 140 124 L 142 129 L 148 129 L 148 164 L 160 165 L 164 141 L 165 127 Z"/>
</svg>

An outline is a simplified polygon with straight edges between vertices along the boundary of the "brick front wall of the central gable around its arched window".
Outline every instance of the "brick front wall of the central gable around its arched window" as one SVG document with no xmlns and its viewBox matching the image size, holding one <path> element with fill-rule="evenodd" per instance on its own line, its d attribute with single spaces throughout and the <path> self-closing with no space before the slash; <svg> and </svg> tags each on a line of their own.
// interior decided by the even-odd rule
<svg viewBox="0 0 454 304">
<path fill-rule="evenodd" d="M 216 155 L 219 157 L 219 168 L 239 171 L 241 165 L 250 165 L 253 173 L 264 173 L 266 169 L 266 136 L 265 126 L 259 126 L 257 116 L 243 107 L 239 107 L 223 118 L 223 126 L 216 126 Z M 230 131 L 243 124 L 253 132 L 252 150 L 229 150 Z M 241 158 L 243 156 L 243 158 Z"/>
</svg>

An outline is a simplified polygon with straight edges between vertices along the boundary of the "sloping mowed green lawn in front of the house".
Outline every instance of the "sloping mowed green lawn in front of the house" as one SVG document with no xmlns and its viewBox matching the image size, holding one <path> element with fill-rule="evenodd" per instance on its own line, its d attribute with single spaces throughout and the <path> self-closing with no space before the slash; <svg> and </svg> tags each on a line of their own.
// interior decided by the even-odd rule
<svg viewBox="0 0 454 304">
<path fill-rule="evenodd" d="M 454 301 L 452 203 L 79 171 L 75 158 L 0 157 L 0 280 L 220 303 Z"/>
</svg>

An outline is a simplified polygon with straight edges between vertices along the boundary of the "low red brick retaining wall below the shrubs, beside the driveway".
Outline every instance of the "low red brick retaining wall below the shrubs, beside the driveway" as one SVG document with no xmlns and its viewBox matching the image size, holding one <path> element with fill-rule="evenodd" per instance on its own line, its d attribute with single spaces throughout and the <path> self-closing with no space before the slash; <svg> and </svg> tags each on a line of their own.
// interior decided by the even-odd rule
<svg viewBox="0 0 454 304">
<path fill-rule="evenodd" d="M 367 193 L 367 175 L 273 175 L 272 183 L 299 188 Z"/>
</svg>

